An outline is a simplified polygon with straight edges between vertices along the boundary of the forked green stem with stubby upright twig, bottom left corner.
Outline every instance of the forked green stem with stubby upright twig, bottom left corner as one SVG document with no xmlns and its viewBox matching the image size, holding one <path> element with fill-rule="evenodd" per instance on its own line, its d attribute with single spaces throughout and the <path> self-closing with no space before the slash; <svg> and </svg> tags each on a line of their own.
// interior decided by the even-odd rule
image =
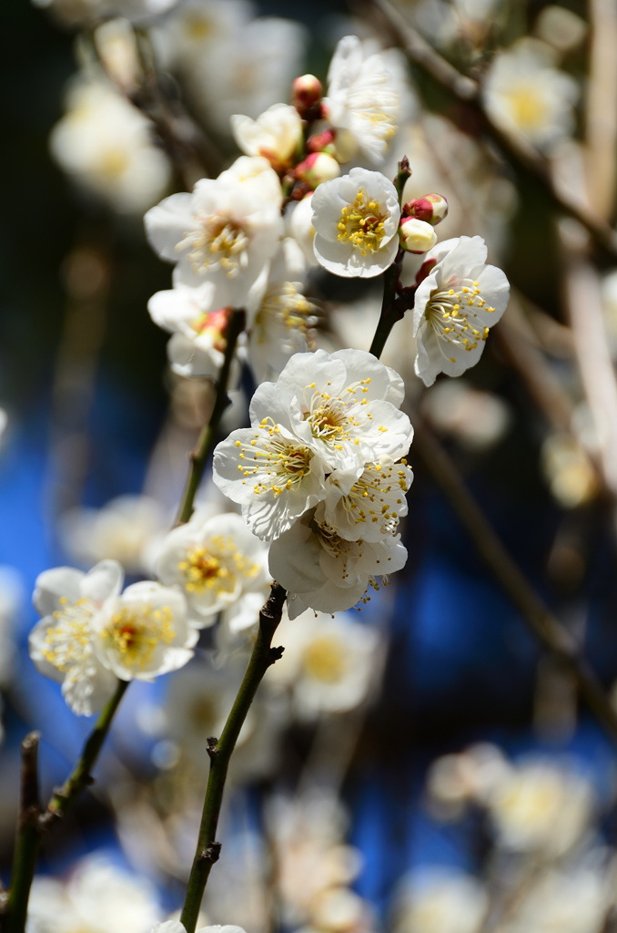
<svg viewBox="0 0 617 933">
<path fill-rule="evenodd" d="M 21 745 L 20 821 L 7 899 L 6 933 L 23 933 L 25 929 L 28 899 L 41 839 L 49 827 L 66 813 L 84 787 L 92 783 L 90 772 L 99 757 L 117 707 L 128 686 L 129 681 L 118 681 L 116 692 L 103 707 L 73 773 L 67 778 L 62 789 L 54 792 L 44 814 L 41 814 L 38 806 L 36 767 L 38 734 L 31 733 L 26 736 Z"/>
</svg>

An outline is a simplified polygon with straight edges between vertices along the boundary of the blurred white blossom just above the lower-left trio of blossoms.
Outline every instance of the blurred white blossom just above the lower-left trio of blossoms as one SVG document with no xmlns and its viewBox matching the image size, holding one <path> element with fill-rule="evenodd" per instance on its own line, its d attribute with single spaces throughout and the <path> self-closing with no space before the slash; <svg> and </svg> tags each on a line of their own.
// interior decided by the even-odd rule
<svg viewBox="0 0 617 933">
<path fill-rule="evenodd" d="M 77 564 L 111 559 L 128 574 L 147 573 L 151 552 L 169 524 L 147 495 L 118 495 L 103 508 L 73 508 L 62 516 L 62 546 Z"/>
</svg>

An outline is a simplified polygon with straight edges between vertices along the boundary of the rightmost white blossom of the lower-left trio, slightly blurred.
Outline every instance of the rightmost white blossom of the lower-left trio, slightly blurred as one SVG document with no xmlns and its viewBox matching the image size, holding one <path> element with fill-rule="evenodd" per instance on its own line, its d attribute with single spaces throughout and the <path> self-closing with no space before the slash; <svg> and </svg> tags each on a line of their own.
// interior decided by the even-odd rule
<svg viewBox="0 0 617 933">
<path fill-rule="evenodd" d="M 252 624 L 266 601 L 267 548 L 235 513 L 204 519 L 196 512 L 163 539 L 155 569 L 162 583 L 185 593 L 190 620 L 199 628 L 231 607 L 240 626 L 247 611 Z"/>
</svg>

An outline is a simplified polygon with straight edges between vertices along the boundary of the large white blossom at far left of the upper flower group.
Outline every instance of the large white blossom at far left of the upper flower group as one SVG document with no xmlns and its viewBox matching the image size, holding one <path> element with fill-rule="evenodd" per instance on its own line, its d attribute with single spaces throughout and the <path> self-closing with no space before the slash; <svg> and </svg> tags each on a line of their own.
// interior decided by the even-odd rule
<svg viewBox="0 0 617 933">
<path fill-rule="evenodd" d="M 260 161 L 278 185 L 267 160 Z M 280 206 L 268 197 L 266 179 L 262 185 L 254 174 L 247 177 L 243 182 L 229 170 L 217 179 L 202 178 L 192 194 L 172 194 L 144 217 L 158 255 L 178 263 L 177 282 L 195 287 L 212 281 L 226 289 L 228 304 L 239 307 L 283 233 Z"/>
</svg>

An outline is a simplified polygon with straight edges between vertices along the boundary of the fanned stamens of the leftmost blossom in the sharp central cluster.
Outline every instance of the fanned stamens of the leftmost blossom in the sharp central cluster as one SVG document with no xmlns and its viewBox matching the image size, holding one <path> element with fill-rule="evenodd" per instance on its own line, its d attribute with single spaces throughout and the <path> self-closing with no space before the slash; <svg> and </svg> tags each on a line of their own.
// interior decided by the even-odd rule
<svg viewBox="0 0 617 933">
<path fill-rule="evenodd" d="M 297 489 L 310 472 L 313 452 L 281 438 L 281 428 L 271 418 L 264 418 L 260 427 L 262 433 L 256 431 L 249 445 L 236 441 L 240 460 L 245 461 L 238 468 L 245 477 L 259 477 L 253 487 L 255 494 L 272 492 L 281 495 Z M 268 439 L 263 431 L 267 432 Z"/>
</svg>

